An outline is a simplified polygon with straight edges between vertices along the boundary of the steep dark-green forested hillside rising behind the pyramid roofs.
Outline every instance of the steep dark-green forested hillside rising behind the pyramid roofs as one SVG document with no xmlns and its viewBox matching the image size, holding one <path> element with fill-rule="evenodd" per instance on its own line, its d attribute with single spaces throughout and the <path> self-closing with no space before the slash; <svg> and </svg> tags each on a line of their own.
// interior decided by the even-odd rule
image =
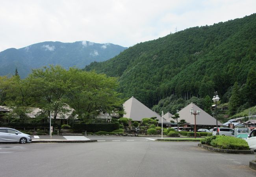
<svg viewBox="0 0 256 177">
<path fill-rule="evenodd" d="M 120 77 L 119 91 L 152 107 L 175 95 L 213 97 L 222 102 L 239 92 L 240 105 L 256 105 L 256 14 L 193 27 L 136 44 L 85 70 Z M 237 89 L 232 90 L 237 82 Z M 232 100 L 232 99 L 231 99 Z"/>
</svg>

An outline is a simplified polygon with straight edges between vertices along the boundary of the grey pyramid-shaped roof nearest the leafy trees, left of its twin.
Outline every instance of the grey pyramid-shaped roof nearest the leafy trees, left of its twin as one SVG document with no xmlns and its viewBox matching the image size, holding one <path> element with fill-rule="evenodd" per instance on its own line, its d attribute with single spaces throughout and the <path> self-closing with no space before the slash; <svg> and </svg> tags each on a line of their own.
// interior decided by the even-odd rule
<svg viewBox="0 0 256 177">
<path fill-rule="evenodd" d="M 159 120 L 158 123 L 161 123 L 161 116 L 157 112 L 152 111 L 134 97 L 125 101 L 123 106 L 124 111 L 126 112 L 124 114 L 124 117 L 126 118 L 141 121 L 143 118 L 156 117 Z M 166 120 L 163 119 L 163 122 L 166 122 Z"/>
</svg>

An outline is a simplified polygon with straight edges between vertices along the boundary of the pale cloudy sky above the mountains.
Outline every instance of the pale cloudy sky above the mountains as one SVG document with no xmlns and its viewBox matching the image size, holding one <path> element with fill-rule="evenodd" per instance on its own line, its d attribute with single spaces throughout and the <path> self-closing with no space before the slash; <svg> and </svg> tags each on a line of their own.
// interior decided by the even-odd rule
<svg viewBox="0 0 256 177">
<path fill-rule="evenodd" d="M 124 47 L 256 13 L 256 0 L 0 0 L 0 52 L 44 41 Z"/>
</svg>

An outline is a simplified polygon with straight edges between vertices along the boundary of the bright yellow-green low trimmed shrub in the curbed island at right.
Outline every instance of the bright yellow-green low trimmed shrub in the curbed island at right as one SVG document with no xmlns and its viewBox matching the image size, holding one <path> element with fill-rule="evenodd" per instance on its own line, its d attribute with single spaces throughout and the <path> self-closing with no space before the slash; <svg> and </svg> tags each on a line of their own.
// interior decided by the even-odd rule
<svg viewBox="0 0 256 177">
<path fill-rule="evenodd" d="M 217 136 L 211 141 L 211 146 L 221 149 L 248 150 L 249 146 L 244 139 L 232 136 Z"/>
</svg>

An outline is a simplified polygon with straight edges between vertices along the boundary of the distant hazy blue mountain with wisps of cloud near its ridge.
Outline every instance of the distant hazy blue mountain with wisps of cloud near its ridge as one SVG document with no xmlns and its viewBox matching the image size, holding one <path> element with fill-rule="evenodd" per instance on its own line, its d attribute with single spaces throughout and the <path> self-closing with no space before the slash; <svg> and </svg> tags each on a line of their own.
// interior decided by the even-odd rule
<svg viewBox="0 0 256 177">
<path fill-rule="evenodd" d="M 84 68 L 93 61 L 106 61 L 125 49 L 119 45 L 89 41 L 41 42 L 20 49 L 10 48 L 0 52 L 0 76 L 13 75 L 15 68 L 23 78 L 31 73 L 32 68 L 48 65 Z"/>
</svg>

